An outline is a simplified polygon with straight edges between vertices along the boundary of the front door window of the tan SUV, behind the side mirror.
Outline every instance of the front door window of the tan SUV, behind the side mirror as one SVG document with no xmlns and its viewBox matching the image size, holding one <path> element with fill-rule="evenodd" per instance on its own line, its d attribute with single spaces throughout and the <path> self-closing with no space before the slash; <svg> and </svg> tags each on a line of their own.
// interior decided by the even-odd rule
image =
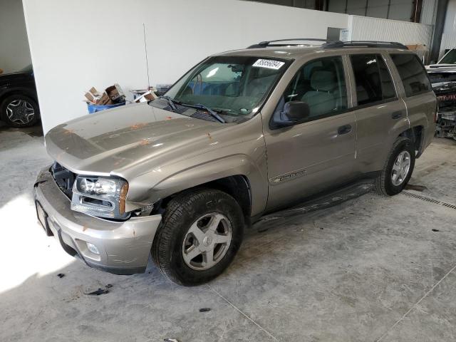
<svg viewBox="0 0 456 342">
<path fill-rule="evenodd" d="M 347 109 L 346 81 L 341 56 L 306 63 L 287 86 L 279 107 L 301 101 L 309 105 L 306 121 L 341 113 Z"/>
</svg>

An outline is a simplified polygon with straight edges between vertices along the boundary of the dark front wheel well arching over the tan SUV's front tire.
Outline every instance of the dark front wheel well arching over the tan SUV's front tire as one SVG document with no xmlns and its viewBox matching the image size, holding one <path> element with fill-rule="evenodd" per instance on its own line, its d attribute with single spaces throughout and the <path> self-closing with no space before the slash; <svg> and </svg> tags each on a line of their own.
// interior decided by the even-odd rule
<svg viewBox="0 0 456 342">
<path fill-rule="evenodd" d="M 208 187 L 210 189 L 217 189 L 223 192 L 226 192 L 228 195 L 231 195 L 239 203 L 242 212 L 244 213 L 244 219 L 246 222 L 250 222 L 250 214 L 252 212 L 252 196 L 250 193 L 250 184 L 247 177 L 244 175 L 234 175 L 229 177 L 220 178 L 219 180 L 213 180 L 212 182 L 203 183 L 192 187 L 190 189 L 183 190 L 182 192 L 188 192 L 197 188 Z M 168 202 L 173 197 L 181 194 L 178 192 L 176 194 L 170 195 L 162 200 L 160 200 L 160 205 L 154 209 L 154 211 L 162 212 L 165 210 Z"/>
</svg>

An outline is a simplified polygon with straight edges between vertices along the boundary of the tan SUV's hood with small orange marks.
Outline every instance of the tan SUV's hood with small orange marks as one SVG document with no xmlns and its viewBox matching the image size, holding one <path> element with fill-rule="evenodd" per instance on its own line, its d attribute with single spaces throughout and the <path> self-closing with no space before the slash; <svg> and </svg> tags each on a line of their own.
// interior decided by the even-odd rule
<svg viewBox="0 0 456 342">
<path fill-rule="evenodd" d="M 190 118 L 135 103 L 58 125 L 46 134 L 49 155 L 78 174 L 123 175 L 138 163 L 195 151 L 199 140 L 232 124 Z"/>
</svg>

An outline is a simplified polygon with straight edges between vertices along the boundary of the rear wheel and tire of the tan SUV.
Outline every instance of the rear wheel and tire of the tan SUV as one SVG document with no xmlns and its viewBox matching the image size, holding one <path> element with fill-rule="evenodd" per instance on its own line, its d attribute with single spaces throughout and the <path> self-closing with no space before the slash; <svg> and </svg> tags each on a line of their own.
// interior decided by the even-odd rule
<svg viewBox="0 0 456 342">
<path fill-rule="evenodd" d="M 399 158 L 400 155 L 402 155 L 401 159 Z M 409 158 L 409 165 L 407 172 L 405 172 L 407 157 Z M 408 138 L 398 138 L 386 159 L 383 170 L 378 177 L 375 177 L 375 192 L 385 196 L 397 195 L 407 185 L 414 167 L 415 145 Z"/>
</svg>

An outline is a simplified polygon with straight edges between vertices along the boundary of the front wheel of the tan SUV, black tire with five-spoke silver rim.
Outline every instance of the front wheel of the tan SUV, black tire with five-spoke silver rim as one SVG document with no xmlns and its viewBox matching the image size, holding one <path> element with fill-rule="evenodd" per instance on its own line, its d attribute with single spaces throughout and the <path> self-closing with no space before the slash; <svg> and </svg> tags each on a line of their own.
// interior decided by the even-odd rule
<svg viewBox="0 0 456 342">
<path fill-rule="evenodd" d="M 217 230 L 212 233 L 215 226 Z M 167 205 L 152 244 L 152 259 L 177 284 L 204 284 L 227 269 L 243 235 L 244 215 L 233 197 L 219 190 L 192 190 L 178 195 Z M 216 244 L 222 240 L 226 242 Z M 202 249 L 207 251 L 200 252 Z M 196 257 L 192 258 L 191 253 Z M 216 263 L 211 265 L 212 262 Z"/>
</svg>

